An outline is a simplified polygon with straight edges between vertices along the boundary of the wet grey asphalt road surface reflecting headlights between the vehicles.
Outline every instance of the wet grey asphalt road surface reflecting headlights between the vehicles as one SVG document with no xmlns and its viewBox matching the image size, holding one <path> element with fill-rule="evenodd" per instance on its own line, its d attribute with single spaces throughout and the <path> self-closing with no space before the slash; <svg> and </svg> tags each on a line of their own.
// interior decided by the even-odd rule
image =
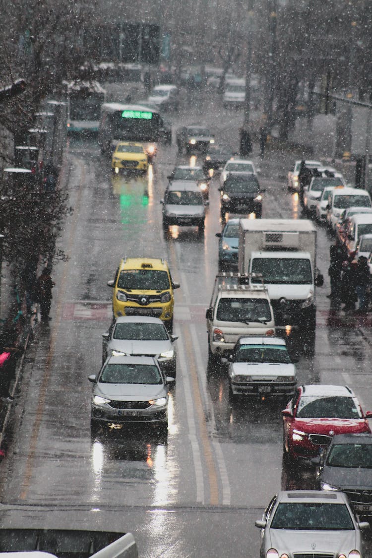
<svg viewBox="0 0 372 558">
<path fill-rule="evenodd" d="M 193 111 L 173 121 L 200 121 L 203 114 L 217 142 L 237 147 L 241 113 L 216 118 L 216 107 L 206 101 Z M 253 158 L 267 189 L 263 217 L 301 218 L 286 181 L 297 155 Z M 141 557 L 258 556 L 254 520 L 269 499 L 281 488 L 313 487 L 311 468 L 282 466 L 281 405 L 232 405 L 226 369 L 208 365 L 205 309 L 218 267 L 218 178 L 205 233 L 172 227 L 164 234 L 159 200 L 176 161 L 187 160 L 177 157 L 175 146 L 162 147 L 148 176 L 112 176 L 94 141 L 70 141 L 64 179 L 74 213 L 60 243 L 69 260 L 54 268 L 52 320 L 36 325 L 26 355 L 2 464 L 2 526 L 131 531 Z M 293 338 L 289 348 L 299 357 L 299 383 L 347 384 L 364 410 L 372 410 L 371 318 L 330 309 L 331 242 L 318 228 L 318 267 L 326 282 L 317 291 L 315 343 Z M 87 377 L 100 366 L 101 335 L 110 321 L 106 283 L 125 255 L 165 257 L 181 283 L 170 426 L 166 439 L 141 430 L 91 441 Z"/>
</svg>

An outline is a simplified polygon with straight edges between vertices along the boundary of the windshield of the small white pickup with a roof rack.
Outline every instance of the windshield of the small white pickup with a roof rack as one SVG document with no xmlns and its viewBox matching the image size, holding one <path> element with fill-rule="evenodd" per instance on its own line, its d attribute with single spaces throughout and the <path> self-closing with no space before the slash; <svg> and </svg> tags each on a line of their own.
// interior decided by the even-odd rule
<svg viewBox="0 0 372 558">
<path fill-rule="evenodd" d="M 271 321 L 270 305 L 266 299 L 221 298 L 217 316 L 220 321 L 239 321 L 243 323 Z"/>
</svg>

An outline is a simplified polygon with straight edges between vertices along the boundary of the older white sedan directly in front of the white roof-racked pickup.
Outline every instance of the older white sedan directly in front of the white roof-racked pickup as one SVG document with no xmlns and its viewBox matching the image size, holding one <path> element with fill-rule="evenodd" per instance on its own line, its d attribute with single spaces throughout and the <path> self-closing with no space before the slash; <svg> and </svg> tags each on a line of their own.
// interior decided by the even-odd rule
<svg viewBox="0 0 372 558">
<path fill-rule="evenodd" d="M 229 362 L 230 392 L 234 396 L 291 398 L 297 385 L 296 367 L 286 341 L 278 337 L 243 337 Z"/>
</svg>

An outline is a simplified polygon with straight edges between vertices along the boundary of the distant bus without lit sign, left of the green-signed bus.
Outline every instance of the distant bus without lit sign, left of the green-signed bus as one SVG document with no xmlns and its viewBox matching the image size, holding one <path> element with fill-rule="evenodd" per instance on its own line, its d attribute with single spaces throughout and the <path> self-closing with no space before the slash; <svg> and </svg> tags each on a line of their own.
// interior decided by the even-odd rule
<svg viewBox="0 0 372 558">
<path fill-rule="evenodd" d="M 71 81 L 67 84 L 67 132 L 98 133 L 101 105 L 106 92 L 98 81 Z"/>
</svg>

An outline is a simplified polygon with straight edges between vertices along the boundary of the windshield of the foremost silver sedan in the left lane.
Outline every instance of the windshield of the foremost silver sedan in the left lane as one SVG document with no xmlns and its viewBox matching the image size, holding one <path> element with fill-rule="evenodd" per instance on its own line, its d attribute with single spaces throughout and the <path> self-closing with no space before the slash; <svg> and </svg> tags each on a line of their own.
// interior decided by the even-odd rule
<svg viewBox="0 0 372 558">
<path fill-rule="evenodd" d="M 152 364 L 106 364 L 101 383 L 162 384 L 158 368 Z"/>
</svg>

